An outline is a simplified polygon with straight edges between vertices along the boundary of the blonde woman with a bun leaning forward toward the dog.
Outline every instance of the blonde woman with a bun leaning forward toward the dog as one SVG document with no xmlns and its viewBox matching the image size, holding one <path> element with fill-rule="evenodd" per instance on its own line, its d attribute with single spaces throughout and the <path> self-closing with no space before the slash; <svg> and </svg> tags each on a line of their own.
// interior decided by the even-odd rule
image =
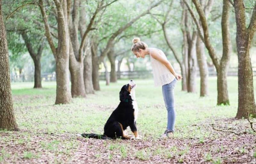
<svg viewBox="0 0 256 164">
<path fill-rule="evenodd" d="M 144 58 L 146 55 L 150 56 L 155 86 L 162 86 L 164 103 L 168 113 L 167 129 L 162 137 L 172 137 L 176 117 L 174 110 L 174 87 L 177 80 L 181 80 L 182 77 L 174 71 L 172 64 L 167 60 L 162 50 L 149 48 L 146 43 L 140 41 L 140 38 L 134 38 L 132 42 L 131 50 L 137 58 Z"/>
</svg>

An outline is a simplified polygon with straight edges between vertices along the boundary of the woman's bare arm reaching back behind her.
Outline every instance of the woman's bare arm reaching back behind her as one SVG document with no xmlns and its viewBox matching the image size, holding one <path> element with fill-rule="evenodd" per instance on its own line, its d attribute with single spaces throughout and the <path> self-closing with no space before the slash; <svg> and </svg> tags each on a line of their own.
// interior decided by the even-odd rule
<svg viewBox="0 0 256 164">
<path fill-rule="evenodd" d="M 171 64 L 168 60 L 166 60 L 164 57 L 162 57 L 161 55 L 159 55 L 159 52 L 158 52 L 157 50 L 153 49 L 150 54 L 151 54 L 151 56 L 152 56 L 154 59 L 156 59 L 156 60 L 158 60 L 159 62 L 163 63 L 163 64 L 167 67 L 167 69 L 168 69 L 178 80 L 182 78 L 180 75 L 178 75 L 178 74 L 174 71 L 174 68 L 172 67 L 172 64 Z"/>
</svg>

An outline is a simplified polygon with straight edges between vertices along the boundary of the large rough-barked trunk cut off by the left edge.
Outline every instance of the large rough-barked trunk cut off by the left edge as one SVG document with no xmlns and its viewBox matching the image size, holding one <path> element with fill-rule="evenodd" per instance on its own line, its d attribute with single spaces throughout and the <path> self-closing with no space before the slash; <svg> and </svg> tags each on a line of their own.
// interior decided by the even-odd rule
<svg viewBox="0 0 256 164">
<path fill-rule="evenodd" d="M 0 129 L 19 130 L 13 112 L 8 46 L 0 0 Z"/>
</svg>

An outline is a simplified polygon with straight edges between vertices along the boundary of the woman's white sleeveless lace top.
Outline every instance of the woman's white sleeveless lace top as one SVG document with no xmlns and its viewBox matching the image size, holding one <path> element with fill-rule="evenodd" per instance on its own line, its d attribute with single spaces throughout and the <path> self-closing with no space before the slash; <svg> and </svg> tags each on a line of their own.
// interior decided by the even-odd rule
<svg viewBox="0 0 256 164">
<path fill-rule="evenodd" d="M 149 56 L 150 56 L 155 86 L 163 86 L 165 84 L 171 83 L 174 80 L 175 76 L 168 70 L 168 68 L 163 63 L 159 62 L 158 60 L 154 59 L 151 56 L 152 49 L 157 50 L 159 52 L 158 54 L 163 58 L 165 58 L 166 60 L 167 60 L 167 57 L 165 56 L 164 52 L 160 49 L 157 49 L 157 48 L 149 49 Z"/>
</svg>

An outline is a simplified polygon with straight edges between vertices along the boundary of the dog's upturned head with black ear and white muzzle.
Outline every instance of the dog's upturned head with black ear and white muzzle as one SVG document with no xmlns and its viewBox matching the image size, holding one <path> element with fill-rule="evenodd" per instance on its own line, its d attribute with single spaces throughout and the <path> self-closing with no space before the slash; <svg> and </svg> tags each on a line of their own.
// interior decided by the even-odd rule
<svg viewBox="0 0 256 164">
<path fill-rule="evenodd" d="M 128 84 L 124 85 L 121 88 L 121 91 L 119 92 L 120 101 L 129 102 L 134 100 L 133 97 L 135 98 L 135 95 L 134 95 L 135 88 L 136 88 L 136 84 L 133 80 L 130 80 Z"/>
</svg>

